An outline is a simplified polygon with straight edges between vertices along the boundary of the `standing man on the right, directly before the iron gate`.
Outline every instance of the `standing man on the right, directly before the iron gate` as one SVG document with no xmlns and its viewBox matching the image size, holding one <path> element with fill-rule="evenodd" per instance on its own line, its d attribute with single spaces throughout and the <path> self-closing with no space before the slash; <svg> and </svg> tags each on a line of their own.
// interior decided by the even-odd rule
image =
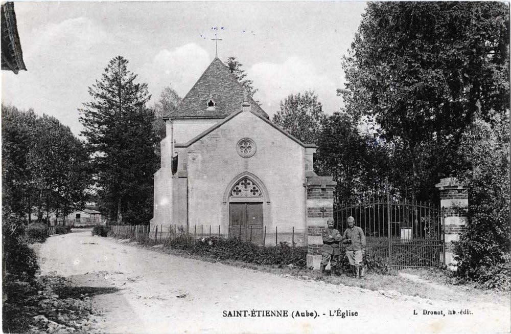
<svg viewBox="0 0 511 334">
<path fill-rule="evenodd" d="M 348 228 L 344 231 L 341 241 L 346 247 L 346 256 L 350 264 L 354 266 L 355 276 L 360 277 L 360 266 L 365 252 L 365 235 L 361 228 L 355 226 L 355 218 L 349 216 L 346 221 Z M 364 276 L 363 271 L 362 276 Z"/>
</svg>

